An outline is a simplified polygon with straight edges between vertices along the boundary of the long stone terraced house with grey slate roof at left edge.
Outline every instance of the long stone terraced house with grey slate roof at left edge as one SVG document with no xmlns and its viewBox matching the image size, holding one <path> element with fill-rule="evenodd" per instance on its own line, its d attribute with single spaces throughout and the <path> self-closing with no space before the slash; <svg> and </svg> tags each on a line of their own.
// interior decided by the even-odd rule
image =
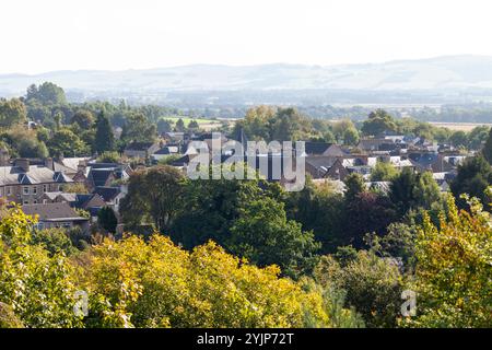
<svg viewBox="0 0 492 350">
<path fill-rule="evenodd" d="M 13 165 L 0 166 L 0 198 L 20 205 L 40 203 L 45 192 L 61 190 L 73 180 L 48 164 L 31 165 L 30 160 L 17 159 Z"/>
</svg>

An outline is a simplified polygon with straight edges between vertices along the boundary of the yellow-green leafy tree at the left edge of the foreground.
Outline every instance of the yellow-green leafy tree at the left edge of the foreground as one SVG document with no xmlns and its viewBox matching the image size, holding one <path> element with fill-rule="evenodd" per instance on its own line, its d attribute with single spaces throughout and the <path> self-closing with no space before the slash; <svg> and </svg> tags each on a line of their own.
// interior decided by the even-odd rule
<svg viewBox="0 0 492 350">
<path fill-rule="evenodd" d="M 35 222 L 17 206 L 0 221 L 0 303 L 26 327 L 80 327 L 73 269 L 63 255 L 31 244 Z"/>
</svg>

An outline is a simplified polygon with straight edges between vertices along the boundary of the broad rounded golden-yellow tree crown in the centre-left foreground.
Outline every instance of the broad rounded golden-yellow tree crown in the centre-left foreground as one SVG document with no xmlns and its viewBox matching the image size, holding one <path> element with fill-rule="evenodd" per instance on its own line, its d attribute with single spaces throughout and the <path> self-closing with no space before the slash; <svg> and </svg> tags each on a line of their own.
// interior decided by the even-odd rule
<svg viewBox="0 0 492 350">
<path fill-rule="evenodd" d="M 328 323 L 319 294 L 212 242 L 188 253 L 157 234 L 105 241 L 84 269 L 92 298 L 109 305 L 97 326 L 302 327 L 307 310 Z"/>
</svg>

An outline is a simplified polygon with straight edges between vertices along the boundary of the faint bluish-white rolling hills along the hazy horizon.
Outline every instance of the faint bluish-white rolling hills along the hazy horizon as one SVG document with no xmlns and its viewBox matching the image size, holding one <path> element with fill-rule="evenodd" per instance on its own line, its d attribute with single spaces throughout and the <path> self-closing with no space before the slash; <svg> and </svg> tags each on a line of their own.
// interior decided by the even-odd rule
<svg viewBox="0 0 492 350">
<path fill-rule="evenodd" d="M 195 65 L 124 71 L 54 71 L 0 75 L 0 95 L 24 94 L 32 83 L 51 81 L 67 91 L 462 91 L 492 90 L 492 57 L 447 56 L 345 66 Z"/>
</svg>

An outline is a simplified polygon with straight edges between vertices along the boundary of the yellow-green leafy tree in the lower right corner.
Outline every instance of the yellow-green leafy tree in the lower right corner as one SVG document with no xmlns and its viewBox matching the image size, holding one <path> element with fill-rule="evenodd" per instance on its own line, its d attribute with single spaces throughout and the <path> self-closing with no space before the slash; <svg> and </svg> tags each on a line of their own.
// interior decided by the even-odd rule
<svg viewBox="0 0 492 350">
<path fill-rule="evenodd" d="M 468 198 L 467 198 L 468 199 Z M 452 196 L 440 226 L 424 218 L 417 242 L 420 327 L 492 326 L 492 221 L 477 199 L 458 211 Z"/>
</svg>

